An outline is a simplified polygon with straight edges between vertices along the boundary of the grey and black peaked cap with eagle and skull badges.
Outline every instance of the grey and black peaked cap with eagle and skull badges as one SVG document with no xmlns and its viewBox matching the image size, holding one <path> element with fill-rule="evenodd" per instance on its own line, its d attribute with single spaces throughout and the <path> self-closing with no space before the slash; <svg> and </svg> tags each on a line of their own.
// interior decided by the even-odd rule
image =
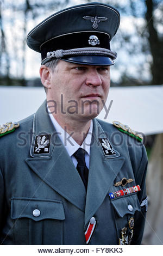
<svg viewBox="0 0 163 256">
<path fill-rule="evenodd" d="M 27 35 L 27 45 L 41 53 L 43 64 L 57 56 L 68 62 L 112 65 L 116 53 L 108 56 L 103 51 L 110 50 L 110 41 L 119 25 L 120 13 L 110 5 L 80 4 L 58 11 L 39 23 Z M 80 48 L 84 52 L 78 52 Z M 100 48 L 102 52 L 98 51 Z M 48 52 L 52 55 L 54 51 L 70 49 L 76 49 L 76 53 L 67 51 L 66 56 L 56 54 L 47 58 Z"/>
</svg>

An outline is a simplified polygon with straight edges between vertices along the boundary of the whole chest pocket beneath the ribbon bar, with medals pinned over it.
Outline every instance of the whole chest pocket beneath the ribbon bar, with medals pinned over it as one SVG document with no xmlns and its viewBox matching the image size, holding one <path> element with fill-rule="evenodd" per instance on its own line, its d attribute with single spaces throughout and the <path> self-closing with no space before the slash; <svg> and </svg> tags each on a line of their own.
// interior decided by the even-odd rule
<svg viewBox="0 0 163 256">
<path fill-rule="evenodd" d="M 131 225 L 129 223 L 131 217 L 134 218 L 134 214 L 136 211 L 140 211 L 140 203 L 137 198 L 136 193 L 134 194 L 128 194 L 124 197 L 117 197 L 115 199 L 111 200 L 111 204 L 114 208 L 115 212 L 115 224 L 117 228 L 117 237 L 118 237 L 118 244 L 120 243 L 120 240 L 122 238 L 122 229 L 127 228 L 126 231 L 126 237 L 128 237 L 128 243 L 131 242 L 132 232 L 134 231 L 134 228 L 131 228 Z M 124 244 L 128 244 L 127 240 L 124 241 Z"/>
</svg>

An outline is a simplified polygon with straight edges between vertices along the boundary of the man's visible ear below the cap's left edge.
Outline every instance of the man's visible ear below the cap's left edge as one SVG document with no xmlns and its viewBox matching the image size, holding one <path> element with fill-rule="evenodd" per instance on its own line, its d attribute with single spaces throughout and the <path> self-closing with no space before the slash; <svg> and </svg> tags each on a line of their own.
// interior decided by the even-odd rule
<svg viewBox="0 0 163 256">
<path fill-rule="evenodd" d="M 40 78 L 43 86 L 47 89 L 51 88 L 51 70 L 46 65 L 40 66 Z"/>
</svg>

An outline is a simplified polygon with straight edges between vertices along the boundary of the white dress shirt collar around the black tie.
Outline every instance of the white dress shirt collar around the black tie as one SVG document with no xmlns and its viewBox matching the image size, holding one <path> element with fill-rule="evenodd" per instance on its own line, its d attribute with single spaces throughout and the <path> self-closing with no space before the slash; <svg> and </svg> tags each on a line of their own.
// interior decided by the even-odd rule
<svg viewBox="0 0 163 256">
<path fill-rule="evenodd" d="M 86 138 L 83 141 L 83 144 L 80 146 L 70 135 L 62 129 L 62 127 L 58 124 L 58 122 L 53 117 L 53 114 L 51 114 L 50 110 L 48 109 L 49 117 L 51 118 L 51 121 L 55 127 L 55 130 L 57 131 L 57 134 L 62 142 L 62 144 L 65 146 L 65 149 L 67 150 L 68 155 L 71 157 L 74 166 L 77 167 L 77 160 L 76 157 L 73 156 L 73 154 L 79 149 L 83 148 L 85 153 L 85 163 L 87 168 L 89 169 L 89 163 L 90 163 L 90 145 L 91 145 L 91 138 L 92 138 L 92 130 L 93 130 L 93 122 L 91 121 L 90 129 L 87 133 Z M 68 139 L 66 139 L 68 138 Z"/>
</svg>

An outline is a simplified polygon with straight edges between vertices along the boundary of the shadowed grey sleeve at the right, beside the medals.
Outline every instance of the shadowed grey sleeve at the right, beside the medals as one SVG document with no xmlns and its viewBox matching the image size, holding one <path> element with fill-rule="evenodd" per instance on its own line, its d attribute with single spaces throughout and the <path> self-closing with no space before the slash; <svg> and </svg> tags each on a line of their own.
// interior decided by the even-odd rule
<svg viewBox="0 0 163 256">
<path fill-rule="evenodd" d="M 141 211 L 136 211 L 134 215 L 134 233 L 131 245 L 140 245 L 143 237 L 143 231 L 145 228 L 146 212 L 147 212 L 147 195 L 146 195 L 146 172 L 147 172 L 147 153 L 143 145 L 142 158 L 139 166 L 139 170 L 136 172 L 135 180 L 136 184 L 140 185 L 141 191 L 137 194 Z"/>
</svg>

